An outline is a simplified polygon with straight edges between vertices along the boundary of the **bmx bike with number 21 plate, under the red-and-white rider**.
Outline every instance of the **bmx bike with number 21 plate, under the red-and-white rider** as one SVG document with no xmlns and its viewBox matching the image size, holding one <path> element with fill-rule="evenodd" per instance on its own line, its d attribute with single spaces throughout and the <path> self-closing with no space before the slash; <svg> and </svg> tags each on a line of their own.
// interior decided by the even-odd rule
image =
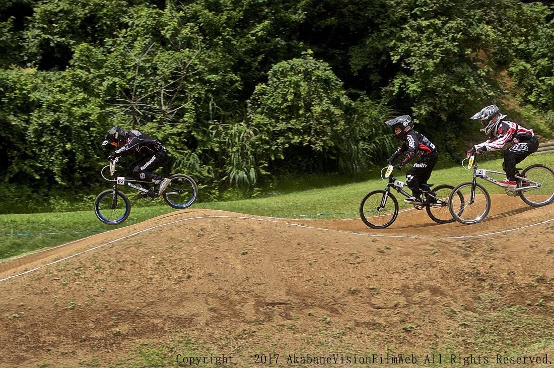
<svg viewBox="0 0 554 368">
<path fill-rule="evenodd" d="M 473 154 L 461 162 L 465 170 L 473 170 L 473 181 L 456 186 L 448 199 L 452 216 L 466 225 L 483 221 L 490 211 L 489 192 L 476 182 L 477 178 L 504 187 L 490 175 L 506 175 L 505 172 L 478 168 L 475 154 L 474 150 Z M 466 160 L 469 160 L 467 166 L 464 164 Z M 550 167 L 538 163 L 521 170 L 516 168 L 516 187 L 504 187 L 507 195 L 519 195 L 527 205 L 534 207 L 546 206 L 554 201 L 554 171 Z"/>
</svg>

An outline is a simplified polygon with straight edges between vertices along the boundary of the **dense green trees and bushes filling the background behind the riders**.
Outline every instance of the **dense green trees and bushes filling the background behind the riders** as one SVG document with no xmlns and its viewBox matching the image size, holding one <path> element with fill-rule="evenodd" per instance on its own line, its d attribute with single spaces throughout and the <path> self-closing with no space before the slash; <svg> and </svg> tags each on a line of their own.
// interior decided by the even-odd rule
<svg viewBox="0 0 554 368">
<path fill-rule="evenodd" d="M 0 0 L 0 201 L 90 194 L 116 124 L 165 142 L 163 171 L 211 198 L 284 171 L 360 172 L 390 153 L 394 114 L 439 146 L 489 103 L 554 127 L 553 14 L 519 0 Z"/>
</svg>

